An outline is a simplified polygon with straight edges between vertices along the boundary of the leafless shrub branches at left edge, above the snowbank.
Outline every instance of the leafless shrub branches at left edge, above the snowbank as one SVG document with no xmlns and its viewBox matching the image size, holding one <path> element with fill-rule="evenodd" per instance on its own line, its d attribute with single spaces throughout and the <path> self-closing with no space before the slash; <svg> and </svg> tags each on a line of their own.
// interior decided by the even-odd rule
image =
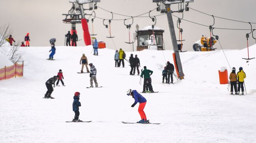
<svg viewBox="0 0 256 143">
<path fill-rule="evenodd" d="M 0 26 L 0 47 L 7 42 L 6 39 L 11 33 L 13 33 L 13 30 L 10 28 L 10 24 Z"/>
</svg>

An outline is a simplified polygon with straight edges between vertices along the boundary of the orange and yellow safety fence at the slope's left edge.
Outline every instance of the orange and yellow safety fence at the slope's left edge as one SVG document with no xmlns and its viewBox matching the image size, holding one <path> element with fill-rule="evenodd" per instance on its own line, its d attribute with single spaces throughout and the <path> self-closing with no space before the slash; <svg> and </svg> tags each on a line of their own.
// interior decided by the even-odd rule
<svg viewBox="0 0 256 143">
<path fill-rule="evenodd" d="M 4 67 L 0 69 L 0 80 L 6 80 L 9 78 L 13 78 L 16 76 L 23 76 L 23 61 L 20 65 L 19 63 L 15 63 L 10 67 Z"/>
</svg>

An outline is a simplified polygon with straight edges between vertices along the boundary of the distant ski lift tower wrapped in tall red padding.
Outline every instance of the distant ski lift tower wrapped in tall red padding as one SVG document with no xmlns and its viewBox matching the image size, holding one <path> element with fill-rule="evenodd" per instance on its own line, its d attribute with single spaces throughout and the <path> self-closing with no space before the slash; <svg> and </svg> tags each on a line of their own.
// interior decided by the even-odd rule
<svg viewBox="0 0 256 143">
<path fill-rule="evenodd" d="M 72 3 L 72 7 L 67 14 L 62 14 L 66 16 L 65 19 L 63 19 L 63 23 L 71 24 L 71 34 L 73 34 L 73 32 L 76 33 L 76 24 L 82 24 L 85 45 L 91 45 L 91 36 L 87 24 L 89 20 L 85 19 L 85 15 L 91 14 L 87 14 L 84 11 L 97 9 L 97 2 L 100 2 L 100 0 L 69 0 L 69 2 Z M 86 4 L 89 5 L 87 9 L 83 8 Z"/>
</svg>

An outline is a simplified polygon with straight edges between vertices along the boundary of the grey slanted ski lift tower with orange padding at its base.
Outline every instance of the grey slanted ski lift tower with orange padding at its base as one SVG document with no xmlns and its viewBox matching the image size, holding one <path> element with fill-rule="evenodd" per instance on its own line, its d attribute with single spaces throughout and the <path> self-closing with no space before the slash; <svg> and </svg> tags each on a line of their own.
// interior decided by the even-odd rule
<svg viewBox="0 0 256 143">
<path fill-rule="evenodd" d="M 184 73 L 182 71 L 182 64 L 180 61 L 180 54 L 178 52 L 178 44 L 176 40 L 176 35 L 174 31 L 174 24 L 173 24 L 173 16 L 172 13 L 183 13 L 183 11 L 188 11 L 189 7 L 188 4 L 189 2 L 194 2 L 194 0 L 153 0 L 157 4 L 157 11 L 160 11 L 161 13 L 166 13 L 167 14 L 167 19 L 169 23 L 169 29 L 171 33 L 171 40 L 173 43 L 173 60 L 174 60 L 174 65 L 176 67 L 176 72 L 178 78 L 180 80 L 184 79 Z M 185 3 L 185 7 L 184 7 Z M 171 4 L 178 4 L 178 11 L 171 11 Z"/>
</svg>

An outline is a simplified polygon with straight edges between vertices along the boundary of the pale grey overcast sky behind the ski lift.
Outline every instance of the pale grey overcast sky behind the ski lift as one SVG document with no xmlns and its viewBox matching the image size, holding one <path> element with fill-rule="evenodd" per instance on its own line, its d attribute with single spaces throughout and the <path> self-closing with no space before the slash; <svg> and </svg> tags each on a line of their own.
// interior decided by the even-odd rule
<svg viewBox="0 0 256 143">
<path fill-rule="evenodd" d="M 208 14 L 246 22 L 256 22 L 255 5 L 256 0 L 195 0 L 195 2 L 189 4 L 190 7 Z M 64 35 L 70 30 L 70 24 L 64 24 L 62 22 L 65 18 L 62 14 L 67 13 L 71 6 L 72 4 L 69 3 L 69 0 L 0 0 L 0 25 L 9 23 L 14 31 L 13 38 L 15 40 L 24 40 L 24 36 L 29 32 L 31 46 L 50 46 L 50 38 L 57 39 L 57 46 L 64 45 Z M 136 16 L 156 8 L 156 3 L 153 3 L 152 0 L 101 0 L 98 6 L 114 13 Z M 171 8 L 175 10 L 177 7 L 177 5 L 173 5 Z M 95 12 L 98 17 L 111 18 L 111 14 L 102 9 L 98 8 Z M 87 13 L 91 13 L 91 11 L 87 11 Z M 160 12 L 155 10 L 152 14 L 160 14 Z M 178 13 L 174 13 L 174 15 L 181 16 Z M 124 18 L 127 17 L 114 15 L 114 19 Z M 204 25 L 211 25 L 213 23 L 211 16 L 193 10 L 186 11 L 184 13 L 184 19 Z M 175 27 L 176 21 L 177 18 L 174 18 Z M 153 23 L 150 18 L 135 18 L 134 25 L 131 28 L 132 33 L 135 31 L 136 24 L 142 28 Z M 158 16 L 156 26 L 165 29 L 163 38 L 166 49 L 173 49 L 167 16 Z M 193 43 L 199 40 L 202 34 L 210 36 L 208 27 L 202 27 L 186 21 L 182 21 L 181 26 L 183 28 L 183 39 L 186 40 L 183 42 L 184 50 L 192 51 Z M 252 26 L 252 29 L 256 29 L 256 24 Z M 89 27 L 91 28 L 91 18 Z M 250 29 L 249 24 L 231 22 L 219 18 L 215 18 L 214 27 Z M 123 21 L 112 21 L 111 30 L 112 35 L 115 36 L 113 41 L 116 48 L 131 51 L 131 45 L 124 43 L 128 41 L 128 31 Z M 82 39 L 83 31 L 81 25 L 77 25 L 77 31 L 78 38 Z M 106 42 L 107 48 L 116 49 L 113 41 L 106 38 L 109 35 L 108 29 L 104 27 L 102 20 L 95 19 L 94 31 L 98 34 L 96 36 L 98 40 Z M 245 35 L 249 32 L 214 30 L 214 33 L 219 35 L 219 40 L 224 49 L 243 49 L 247 47 Z M 176 29 L 176 37 L 178 38 L 178 29 Z M 253 44 L 255 44 L 255 40 L 250 35 L 249 45 Z M 83 45 L 85 45 L 83 40 L 78 42 L 78 46 Z M 136 46 L 137 43 L 134 44 L 134 47 Z M 219 43 L 215 47 L 220 49 Z"/>
</svg>

